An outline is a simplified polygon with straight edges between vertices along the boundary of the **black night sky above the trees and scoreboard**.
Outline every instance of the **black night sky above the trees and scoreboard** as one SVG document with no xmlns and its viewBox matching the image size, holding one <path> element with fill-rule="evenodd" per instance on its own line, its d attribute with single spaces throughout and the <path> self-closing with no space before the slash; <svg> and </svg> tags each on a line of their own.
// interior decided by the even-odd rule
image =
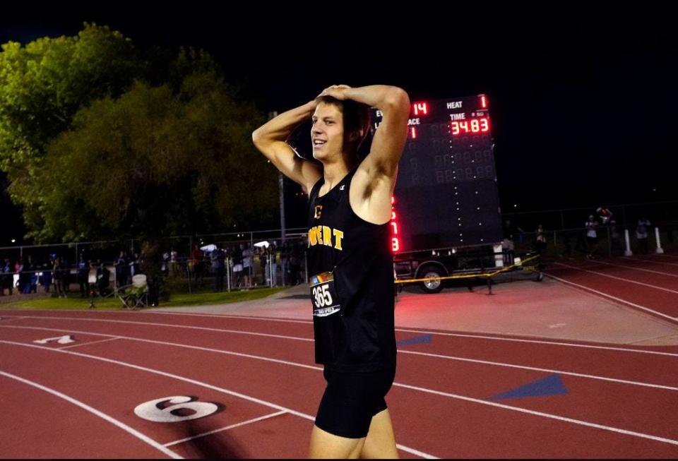
<svg viewBox="0 0 678 461">
<path fill-rule="evenodd" d="M 133 5 L 5 11 L 0 42 L 74 35 L 88 21 L 138 47 L 203 48 L 265 111 L 290 109 L 335 83 L 398 85 L 413 102 L 484 93 L 502 210 L 678 200 L 678 40 L 666 12 L 410 5 L 387 15 L 335 4 L 328 14 L 318 5 L 258 4 L 236 14 L 190 2 L 140 14 Z M 1 206 L 3 222 L 18 220 L 6 197 Z"/>
</svg>

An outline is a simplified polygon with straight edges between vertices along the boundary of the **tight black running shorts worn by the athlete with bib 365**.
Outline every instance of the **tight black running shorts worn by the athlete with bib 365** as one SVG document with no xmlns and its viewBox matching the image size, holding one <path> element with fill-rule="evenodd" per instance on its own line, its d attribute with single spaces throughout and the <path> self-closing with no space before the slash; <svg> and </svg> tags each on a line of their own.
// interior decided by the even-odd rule
<svg viewBox="0 0 678 461">
<path fill-rule="evenodd" d="M 335 436 L 367 436 L 372 417 L 386 409 L 396 369 L 362 373 L 338 373 L 325 369 L 327 388 L 320 401 L 316 426 Z"/>
</svg>

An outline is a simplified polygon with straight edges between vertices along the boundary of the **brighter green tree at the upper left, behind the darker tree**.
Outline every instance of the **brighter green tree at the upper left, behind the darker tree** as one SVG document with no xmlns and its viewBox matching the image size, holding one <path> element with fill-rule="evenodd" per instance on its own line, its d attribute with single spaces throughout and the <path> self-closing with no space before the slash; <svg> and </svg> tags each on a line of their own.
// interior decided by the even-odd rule
<svg viewBox="0 0 678 461">
<path fill-rule="evenodd" d="M 131 40 L 97 25 L 85 24 L 76 37 L 3 44 L 0 168 L 20 176 L 39 166 L 47 143 L 78 109 L 120 95 L 147 68 Z"/>
</svg>

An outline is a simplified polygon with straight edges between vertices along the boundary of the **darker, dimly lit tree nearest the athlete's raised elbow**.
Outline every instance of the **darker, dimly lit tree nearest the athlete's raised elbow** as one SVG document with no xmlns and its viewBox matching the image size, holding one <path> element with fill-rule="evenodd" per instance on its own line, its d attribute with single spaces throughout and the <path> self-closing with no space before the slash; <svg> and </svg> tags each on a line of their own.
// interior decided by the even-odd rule
<svg viewBox="0 0 678 461">
<path fill-rule="evenodd" d="M 275 170 L 250 141 L 261 122 L 211 72 L 187 76 L 177 93 L 138 82 L 97 100 L 35 174 L 44 226 L 33 235 L 157 240 L 273 220 Z"/>
</svg>

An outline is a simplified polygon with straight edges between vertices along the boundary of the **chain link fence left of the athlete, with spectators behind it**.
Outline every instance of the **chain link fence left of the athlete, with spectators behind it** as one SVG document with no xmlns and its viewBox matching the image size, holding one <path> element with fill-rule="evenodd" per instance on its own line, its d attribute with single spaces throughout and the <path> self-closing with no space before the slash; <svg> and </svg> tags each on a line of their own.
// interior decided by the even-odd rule
<svg viewBox="0 0 678 461">
<path fill-rule="evenodd" d="M 160 241 L 162 285 L 172 292 L 231 291 L 307 280 L 305 229 L 169 237 Z M 0 293 L 107 297 L 141 273 L 141 242 L 0 247 Z"/>
</svg>

